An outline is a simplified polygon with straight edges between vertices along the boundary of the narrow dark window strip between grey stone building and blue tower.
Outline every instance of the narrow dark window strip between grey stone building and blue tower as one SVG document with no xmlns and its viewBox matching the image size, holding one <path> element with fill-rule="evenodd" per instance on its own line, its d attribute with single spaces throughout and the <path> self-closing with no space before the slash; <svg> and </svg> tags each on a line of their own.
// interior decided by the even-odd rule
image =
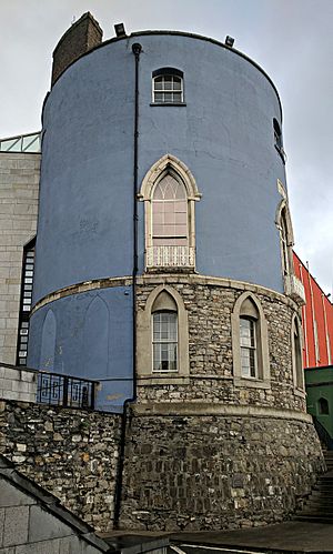
<svg viewBox="0 0 333 554">
<path fill-rule="evenodd" d="M 17 346 L 17 365 L 27 365 L 29 315 L 32 305 L 32 281 L 34 270 L 34 244 L 36 239 L 23 249 L 21 300 L 19 313 L 19 331 Z"/>
</svg>

